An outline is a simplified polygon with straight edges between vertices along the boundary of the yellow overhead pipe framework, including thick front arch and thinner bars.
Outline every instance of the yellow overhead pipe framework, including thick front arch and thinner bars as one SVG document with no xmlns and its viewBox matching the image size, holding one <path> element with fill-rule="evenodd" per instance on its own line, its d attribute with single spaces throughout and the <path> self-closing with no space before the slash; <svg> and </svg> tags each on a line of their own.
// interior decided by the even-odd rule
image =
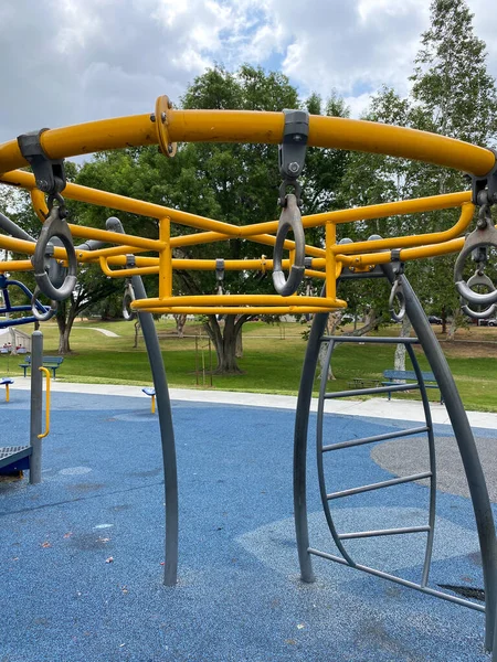
<svg viewBox="0 0 497 662">
<path fill-rule="evenodd" d="M 51 158 L 64 158 L 76 153 L 88 153 L 102 149 L 117 149 L 125 145 L 152 145 L 160 143 L 162 151 L 168 149 L 168 154 L 173 153 L 171 143 L 177 140 L 187 141 L 231 141 L 231 142 L 265 142 L 278 143 L 283 135 L 284 116 L 278 113 L 245 113 L 245 111 L 211 111 L 211 110 L 172 110 L 169 108 L 167 97 L 159 97 L 157 107 L 166 114 L 163 122 L 155 122 L 150 116 L 134 116 L 114 120 L 88 122 L 75 127 L 44 131 L 41 142 L 44 151 Z M 157 126 L 157 125 L 160 126 Z M 334 147 L 352 149 L 390 156 L 419 159 L 440 166 L 458 168 L 474 174 L 484 175 L 495 164 L 495 156 L 489 150 L 464 143 L 457 140 L 404 129 L 349 120 L 342 118 L 315 117 L 309 120 L 309 146 Z M 170 149 L 169 149 L 170 148 Z M 46 216 L 46 204 L 43 194 L 35 189 L 32 174 L 24 171 L 13 171 L 13 168 L 24 166 L 19 148 L 14 141 L 0 146 L 0 178 L 6 183 L 21 185 L 31 191 L 33 206 L 43 222 Z M 159 275 L 159 298 L 137 302 L 135 307 L 144 310 L 176 310 L 189 309 L 191 311 L 213 307 L 225 311 L 244 310 L 245 307 L 257 307 L 258 310 L 272 309 L 293 311 L 295 307 L 332 309 L 345 306 L 336 300 L 336 279 L 342 266 L 349 268 L 367 269 L 377 264 L 390 261 L 389 250 L 401 249 L 401 256 L 406 259 L 419 259 L 426 255 L 440 255 L 459 246 L 457 237 L 467 228 L 474 214 L 470 203 L 470 193 L 452 193 L 425 199 L 398 201 L 368 207 L 327 212 L 303 217 L 305 228 L 326 227 L 326 247 L 306 246 L 306 255 L 313 257 L 311 268 L 307 269 L 308 276 L 325 278 L 325 299 L 311 301 L 311 297 L 297 296 L 282 298 L 278 296 L 201 296 L 201 297 L 172 297 L 173 269 L 215 269 L 215 260 L 184 260 L 172 258 L 175 247 L 198 245 L 226 239 L 248 239 L 263 245 L 274 245 L 278 222 L 269 221 L 250 226 L 236 226 L 230 223 L 205 218 L 162 205 L 128 199 L 121 195 L 107 193 L 67 184 L 64 195 L 81 202 L 112 207 L 129 213 L 149 216 L 159 221 L 159 238 L 149 239 L 134 235 L 125 235 L 97 228 L 70 224 L 70 229 L 75 237 L 98 239 L 115 244 L 109 248 L 95 252 L 80 250 L 77 258 L 82 263 L 97 261 L 107 276 L 127 277 L 136 274 Z M 425 213 L 435 210 L 461 207 L 461 216 L 453 227 L 444 232 L 408 235 L 401 237 L 387 237 L 376 242 L 356 242 L 352 244 L 337 245 L 336 226 L 356 221 L 384 218 L 394 215 Z M 170 224 L 177 223 L 192 227 L 199 232 L 194 234 L 171 237 Z M 0 235 L 0 247 L 17 253 L 32 255 L 34 244 Z M 295 250 L 295 243 L 287 239 L 284 245 L 289 250 L 288 259 L 284 267 L 289 268 Z M 455 248 L 456 249 L 456 248 Z M 126 265 L 126 255 L 141 252 L 154 252 L 158 257 L 135 257 L 133 268 L 112 269 Z M 387 252 L 387 253 L 385 253 Z M 66 258 L 65 250 L 56 247 L 56 259 Z M 29 260 L 15 260 L 11 264 L 12 270 L 28 268 Z M 272 260 L 265 257 L 252 260 L 225 260 L 225 269 L 265 270 L 271 268 Z M 0 267 L 7 270 L 7 267 Z M 318 269 L 325 269 L 324 271 Z M 224 298 L 229 299 L 224 300 Z M 258 298 L 257 298 L 258 297 Z"/>
</svg>

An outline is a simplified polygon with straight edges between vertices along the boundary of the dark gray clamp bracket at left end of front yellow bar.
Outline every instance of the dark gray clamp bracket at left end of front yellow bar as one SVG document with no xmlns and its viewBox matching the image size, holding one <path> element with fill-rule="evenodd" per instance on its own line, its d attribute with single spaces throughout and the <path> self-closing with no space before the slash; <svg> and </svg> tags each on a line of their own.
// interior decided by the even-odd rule
<svg viewBox="0 0 497 662">
<path fill-rule="evenodd" d="M 41 145 L 41 135 L 49 129 L 30 131 L 18 136 L 21 154 L 31 166 L 36 188 L 49 195 L 57 195 L 65 189 L 64 159 L 50 159 Z"/>
</svg>

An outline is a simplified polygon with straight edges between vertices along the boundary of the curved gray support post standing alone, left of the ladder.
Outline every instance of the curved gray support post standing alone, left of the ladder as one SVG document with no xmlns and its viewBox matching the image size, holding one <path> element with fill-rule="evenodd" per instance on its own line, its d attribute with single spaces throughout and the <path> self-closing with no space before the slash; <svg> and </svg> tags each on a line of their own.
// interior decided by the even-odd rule
<svg viewBox="0 0 497 662">
<path fill-rule="evenodd" d="M 144 282 L 140 276 L 131 278 L 137 299 L 146 299 Z M 163 583 L 175 586 L 178 580 L 178 472 L 176 465 L 175 429 L 172 426 L 171 402 L 168 382 L 160 352 L 154 318 L 150 312 L 138 312 L 144 332 L 145 345 L 156 388 L 157 410 L 159 414 L 160 439 L 162 444 L 163 478 L 166 492 L 166 556 Z"/>
</svg>

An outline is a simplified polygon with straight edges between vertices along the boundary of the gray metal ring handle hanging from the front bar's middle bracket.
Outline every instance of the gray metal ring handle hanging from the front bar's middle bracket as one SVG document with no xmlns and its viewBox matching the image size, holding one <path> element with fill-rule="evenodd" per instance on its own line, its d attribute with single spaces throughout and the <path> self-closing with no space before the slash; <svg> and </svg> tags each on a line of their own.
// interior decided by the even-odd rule
<svg viewBox="0 0 497 662">
<path fill-rule="evenodd" d="M 292 229 L 295 239 L 295 260 L 292 265 L 288 279 L 282 269 L 283 245 L 285 244 L 286 235 Z M 286 196 L 286 205 L 282 211 L 276 233 L 276 244 L 273 254 L 273 285 L 274 289 L 282 297 L 293 295 L 304 279 L 305 273 L 305 256 L 306 256 L 306 237 L 302 224 L 302 214 L 298 209 L 297 199 L 293 193 Z"/>
</svg>

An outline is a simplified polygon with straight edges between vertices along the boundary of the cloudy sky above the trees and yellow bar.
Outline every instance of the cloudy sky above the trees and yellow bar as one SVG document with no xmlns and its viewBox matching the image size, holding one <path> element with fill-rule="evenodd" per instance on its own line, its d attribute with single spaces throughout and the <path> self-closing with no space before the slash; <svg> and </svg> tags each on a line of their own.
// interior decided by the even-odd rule
<svg viewBox="0 0 497 662">
<path fill-rule="evenodd" d="M 468 0 L 497 77 L 495 0 Z M 1 0 L 0 142 L 41 127 L 149 113 L 214 62 L 336 89 L 358 117 L 408 90 L 430 0 Z"/>
</svg>

